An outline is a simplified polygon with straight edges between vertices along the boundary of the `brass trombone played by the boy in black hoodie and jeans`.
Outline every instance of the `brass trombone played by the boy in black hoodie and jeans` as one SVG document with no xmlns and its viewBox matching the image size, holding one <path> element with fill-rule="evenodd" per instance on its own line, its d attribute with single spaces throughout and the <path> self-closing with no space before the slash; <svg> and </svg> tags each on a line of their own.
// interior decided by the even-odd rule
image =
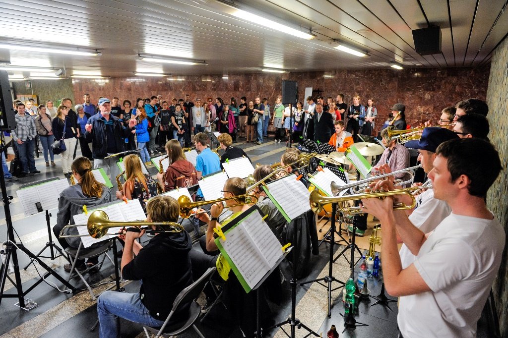
<svg viewBox="0 0 508 338">
<path fill-rule="evenodd" d="M 170 228 L 168 230 L 148 230 L 146 233 L 157 233 L 157 232 L 181 232 L 184 231 L 183 226 L 175 222 L 145 222 L 145 221 L 132 221 L 132 222 L 118 222 L 118 221 L 110 221 L 108 214 L 103 210 L 96 210 L 90 214 L 88 221 L 86 223 L 86 228 L 88 230 L 87 235 L 82 234 L 71 234 L 65 235 L 63 234 L 66 229 L 75 228 L 78 226 L 85 226 L 84 224 L 76 224 L 76 225 L 66 225 L 64 226 L 60 233 L 59 238 L 74 238 L 74 237 L 88 237 L 99 239 L 108 234 L 109 228 L 116 228 L 119 226 L 160 226 L 160 225 L 168 225 Z M 120 232 L 119 232 L 120 233 Z"/>
</svg>

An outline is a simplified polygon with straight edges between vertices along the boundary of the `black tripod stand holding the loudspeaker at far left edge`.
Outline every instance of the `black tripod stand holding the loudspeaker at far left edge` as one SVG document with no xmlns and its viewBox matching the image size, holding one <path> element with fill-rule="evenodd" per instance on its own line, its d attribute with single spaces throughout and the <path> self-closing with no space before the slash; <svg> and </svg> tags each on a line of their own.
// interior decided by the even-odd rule
<svg viewBox="0 0 508 338">
<path fill-rule="evenodd" d="M 4 151 L 3 143 L 0 145 L 0 151 Z M 7 242 L 6 242 L 6 249 L 5 249 L 5 255 L 6 259 L 2 265 L 2 269 L 0 271 L 0 302 L 2 302 L 3 298 L 18 298 L 19 300 L 19 307 L 24 308 L 25 307 L 25 300 L 24 296 L 33 290 L 37 285 L 42 283 L 44 279 L 46 279 L 49 275 L 53 275 L 57 280 L 59 280 L 63 285 L 65 285 L 67 288 L 72 290 L 72 292 L 76 292 L 76 288 L 69 284 L 65 279 L 63 279 L 60 275 L 58 275 L 56 272 L 54 272 L 46 263 L 44 263 L 39 257 L 31 253 L 28 249 L 26 249 L 23 244 L 17 244 L 16 240 L 14 239 L 14 227 L 12 225 L 12 219 L 11 219 L 11 210 L 9 208 L 10 200 L 12 199 L 12 196 L 7 195 L 7 188 L 5 185 L 5 178 L 4 178 L 4 168 L 3 166 L 0 166 L 0 187 L 2 188 L 2 201 L 4 202 L 4 211 L 5 211 L 5 220 L 7 223 Z M 47 272 L 43 275 L 43 277 L 35 282 L 32 286 L 30 286 L 28 289 L 23 291 L 23 285 L 21 284 L 21 276 L 19 275 L 19 263 L 18 263 L 18 256 L 16 254 L 17 250 L 21 250 L 24 252 L 28 257 L 31 258 L 32 261 L 36 260 L 41 267 L 43 267 Z M 14 267 L 14 276 L 16 283 L 16 293 L 15 294 L 4 294 L 4 288 L 6 285 L 6 279 L 7 279 L 7 270 L 9 268 L 9 262 L 12 259 L 13 267 Z M 11 280 L 9 278 L 9 280 Z M 12 282 L 12 280 L 11 280 Z"/>
</svg>

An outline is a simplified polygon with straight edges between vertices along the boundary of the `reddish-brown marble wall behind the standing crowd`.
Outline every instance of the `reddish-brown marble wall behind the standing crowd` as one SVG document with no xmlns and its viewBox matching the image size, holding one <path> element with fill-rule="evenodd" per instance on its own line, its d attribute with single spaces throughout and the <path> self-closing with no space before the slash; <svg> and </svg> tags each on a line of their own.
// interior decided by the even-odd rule
<svg viewBox="0 0 508 338">
<path fill-rule="evenodd" d="M 326 76 L 326 77 L 325 77 Z M 191 99 L 217 97 L 223 99 L 241 96 L 253 99 L 268 97 L 273 106 L 281 94 L 281 80 L 298 82 L 299 99 L 304 100 L 305 87 L 319 89 L 319 95 L 332 96 L 343 93 L 346 103 L 353 102 L 356 93 L 362 96 L 362 104 L 374 99 L 379 111 L 379 121 L 385 121 L 395 103 L 406 105 L 406 121 L 418 125 L 426 120 L 437 124 L 441 110 L 453 106 L 468 97 L 485 99 L 489 78 L 489 66 L 481 69 L 409 69 L 409 70 L 342 70 L 336 72 L 300 72 L 289 74 L 254 73 L 233 74 L 228 79 L 221 75 L 161 78 L 115 78 L 106 80 L 73 80 L 74 96 L 80 99 L 83 93 L 91 95 L 97 103 L 99 96 L 117 96 L 120 100 L 135 100 L 161 94 L 165 99 Z M 137 80 L 137 81 L 136 81 Z M 318 93 L 316 93 L 317 95 Z M 377 123 L 377 128 L 382 123 Z"/>
</svg>

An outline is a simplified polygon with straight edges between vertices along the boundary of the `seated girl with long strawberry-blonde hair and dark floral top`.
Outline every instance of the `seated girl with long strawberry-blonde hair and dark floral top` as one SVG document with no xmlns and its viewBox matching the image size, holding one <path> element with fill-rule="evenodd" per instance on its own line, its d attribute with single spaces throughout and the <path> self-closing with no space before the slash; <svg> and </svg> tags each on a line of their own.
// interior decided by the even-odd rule
<svg viewBox="0 0 508 338">
<path fill-rule="evenodd" d="M 178 142 L 178 141 L 177 141 Z M 141 170 L 139 156 L 131 154 L 123 158 L 125 166 L 125 183 L 122 184 L 122 191 L 116 192 L 116 198 L 126 199 L 138 198 L 143 210 L 146 208 L 146 200 L 157 195 L 157 183 Z"/>
</svg>

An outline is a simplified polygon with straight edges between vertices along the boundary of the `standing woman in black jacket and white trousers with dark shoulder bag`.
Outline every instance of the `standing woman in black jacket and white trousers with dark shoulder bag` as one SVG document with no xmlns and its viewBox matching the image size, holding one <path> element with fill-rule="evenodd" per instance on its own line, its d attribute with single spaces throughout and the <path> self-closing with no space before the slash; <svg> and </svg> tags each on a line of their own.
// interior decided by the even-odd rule
<svg viewBox="0 0 508 338">
<path fill-rule="evenodd" d="M 51 122 L 55 140 L 63 140 L 66 150 L 60 153 L 63 175 L 71 177 L 71 164 L 73 161 L 74 148 L 76 147 L 76 129 L 73 127 L 73 120 L 69 116 L 69 108 L 59 106 L 56 110 L 56 116 Z"/>
</svg>

